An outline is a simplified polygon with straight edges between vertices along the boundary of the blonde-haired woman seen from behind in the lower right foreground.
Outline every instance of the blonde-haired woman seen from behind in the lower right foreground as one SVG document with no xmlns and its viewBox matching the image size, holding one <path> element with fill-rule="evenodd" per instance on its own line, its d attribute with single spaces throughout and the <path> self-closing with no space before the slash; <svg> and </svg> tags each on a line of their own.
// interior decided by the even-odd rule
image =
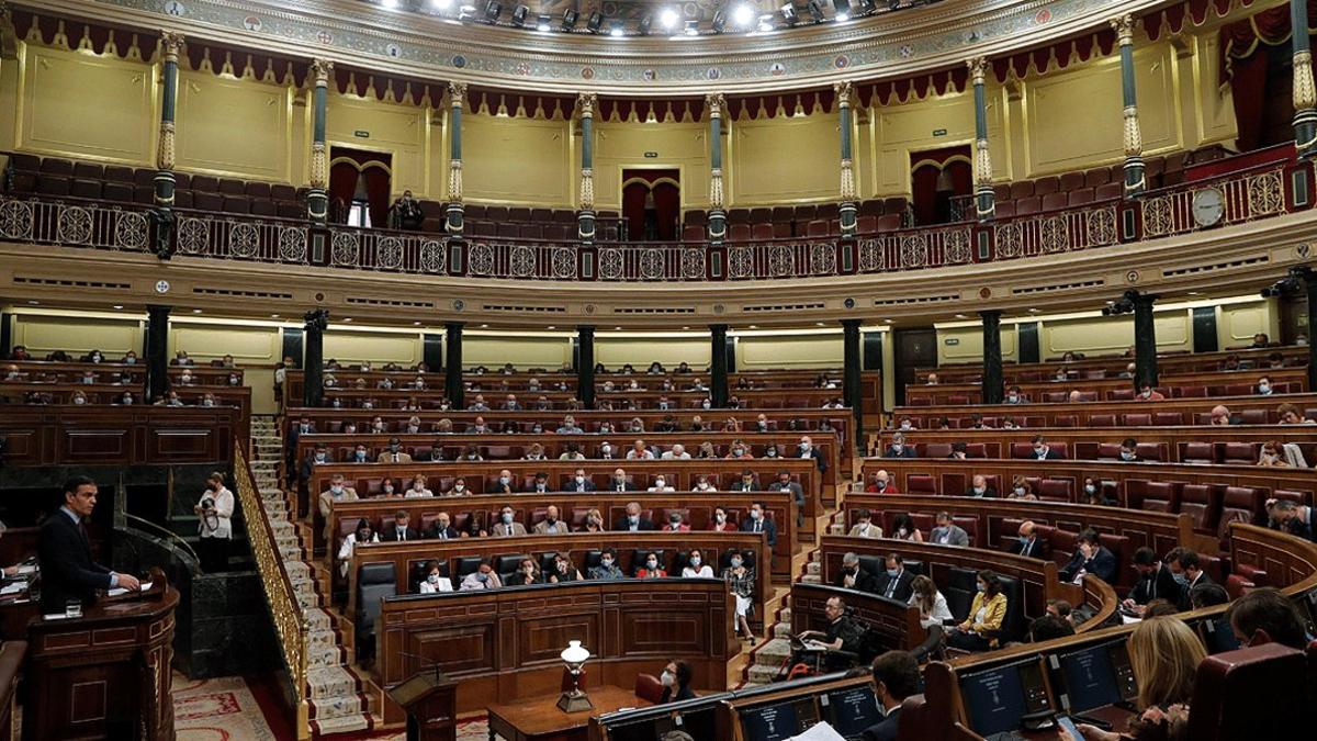
<svg viewBox="0 0 1317 741">
<path fill-rule="evenodd" d="M 1198 634 L 1177 617 L 1154 617 L 1130 634 L 1129 651 L 1139 686 L 1139 716 L 1125 733 L 1092 725 L 1080 725 L 1079 732 L 1085 741 L 1187 738 L 1193 680 L 1208 657 Z"/>
</svg>

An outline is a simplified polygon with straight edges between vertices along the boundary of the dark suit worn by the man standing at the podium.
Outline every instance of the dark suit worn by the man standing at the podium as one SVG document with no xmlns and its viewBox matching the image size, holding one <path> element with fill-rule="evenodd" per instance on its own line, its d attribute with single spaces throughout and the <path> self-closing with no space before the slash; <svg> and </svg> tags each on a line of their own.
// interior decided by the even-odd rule
<svg viewBox="0 0 1317 741">
<path fill-rule="evenodd" d="M 91 604 L 97 589 L 111 588 L 109 570 L 91 559 L 86 530 L 62 509 L 41 523 L 37 560 L 42 613 L 63 613 L 70 600 Z"/>
</svg>

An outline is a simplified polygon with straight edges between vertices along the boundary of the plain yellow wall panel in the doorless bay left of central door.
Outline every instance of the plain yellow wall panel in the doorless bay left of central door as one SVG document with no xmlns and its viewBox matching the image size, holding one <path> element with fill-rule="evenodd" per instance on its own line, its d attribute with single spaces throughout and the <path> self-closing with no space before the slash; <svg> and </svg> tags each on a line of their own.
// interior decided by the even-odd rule
<svg viewBox="0 0 1317 741">
<path fill-rule="evenodd" d="M 570 208 L 570 121 L 462 116 L 462 183 L 471 200 Z"/>
</svg>

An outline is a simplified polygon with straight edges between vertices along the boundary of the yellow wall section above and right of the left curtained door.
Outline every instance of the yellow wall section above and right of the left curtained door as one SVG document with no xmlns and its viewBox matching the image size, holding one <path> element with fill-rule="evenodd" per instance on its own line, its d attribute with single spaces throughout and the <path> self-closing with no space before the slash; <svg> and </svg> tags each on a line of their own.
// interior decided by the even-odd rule
<svg viewBox="0 0 1317 741">
<path fill-rule="evenodd" d="M 425 189 L 425 108 L 382 103 L 374 98 L 329 95 L 325 137 L 333 146 L 386 152 L 392 157 L 394 195 L 411 190 L 417 198 L 441 198 Z M 369 132 L 361 138 L 357 132 Z"/>
</svg>

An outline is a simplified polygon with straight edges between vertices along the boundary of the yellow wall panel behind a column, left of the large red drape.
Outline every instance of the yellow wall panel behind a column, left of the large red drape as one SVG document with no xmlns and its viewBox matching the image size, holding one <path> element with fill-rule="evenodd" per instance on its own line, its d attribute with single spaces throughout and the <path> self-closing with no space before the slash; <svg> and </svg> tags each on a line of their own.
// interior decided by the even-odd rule
<svg viewBox="0 0 1317 741">
<path fill-rule="evenodd" d="M 1173 55 L 1169 45 L 1134 53 L 1139 127 L 1146 153 L 1180 146 Z M 1026 177 L 1083 170 L 1119 161 L 1122 145 L 1121 61 L 1093 63 L 1021 83 L 1025 90 Z"/>
</svg>

